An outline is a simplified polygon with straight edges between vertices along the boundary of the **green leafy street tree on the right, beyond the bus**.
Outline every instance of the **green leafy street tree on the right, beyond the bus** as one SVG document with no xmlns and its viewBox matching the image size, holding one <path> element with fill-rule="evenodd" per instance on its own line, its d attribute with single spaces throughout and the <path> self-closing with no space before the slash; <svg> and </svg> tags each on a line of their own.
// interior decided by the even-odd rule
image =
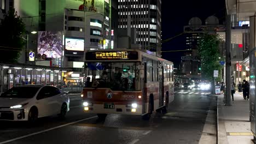
<svg viewBox="0 0 256 144">
<path fill-rule="evenodd" d="M 201 58 L 201 75 L 202 78 L 208 81 L 214 82 L 213 71 L 222 70 L 223 66 L 219 64 L 219 61 L 223 58 L 220 56 L 219 44 L 222 40 L 218 34 L 202 34 L 199 40 L 198 49 L 199 56 Z M 220 57 L 220 59 L 219 59 Z M 219 79 L 219 78 L 217 78 Z"/>
</svg>

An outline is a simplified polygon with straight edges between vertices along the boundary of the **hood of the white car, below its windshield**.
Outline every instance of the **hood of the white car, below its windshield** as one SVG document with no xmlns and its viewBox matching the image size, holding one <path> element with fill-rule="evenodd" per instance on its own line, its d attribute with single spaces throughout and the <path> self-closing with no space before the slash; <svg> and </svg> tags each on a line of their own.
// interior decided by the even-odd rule
<svg viewBox="0 0 256 144">
<path fill-rule="evenodd" d="M 0 98 L 0 107 L 9 107 L 14 105 L 22 105 L 28 103 L 31 99 L 22 98 Z"/>
</svg>

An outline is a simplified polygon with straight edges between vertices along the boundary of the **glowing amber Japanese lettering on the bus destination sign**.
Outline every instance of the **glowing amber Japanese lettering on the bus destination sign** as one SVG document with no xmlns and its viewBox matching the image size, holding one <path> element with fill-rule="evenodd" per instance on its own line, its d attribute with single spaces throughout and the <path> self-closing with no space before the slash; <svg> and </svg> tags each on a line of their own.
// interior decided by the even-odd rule
<svg viewBox="0 0 256 144">
<path fill-rule="evenodd" d="M 127 59 L 128 53 L 127 51 L 121 52 L 96 52 L 96 58 L 108 58 L 108 59 Z"/>
</svg>

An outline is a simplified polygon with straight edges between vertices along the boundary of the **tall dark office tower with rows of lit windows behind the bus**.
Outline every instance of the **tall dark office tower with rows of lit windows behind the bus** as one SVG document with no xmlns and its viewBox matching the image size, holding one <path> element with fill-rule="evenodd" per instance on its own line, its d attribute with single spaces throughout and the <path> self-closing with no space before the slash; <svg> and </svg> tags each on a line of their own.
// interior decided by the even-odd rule
<svg viewBox="0 0 256 144">
<path fill-rule="evenodd" d="M 119 28 L 136 28 L 136 44 L 161 56 L 161 0 L 118 0 L 118 15 Z"/>
</svg>

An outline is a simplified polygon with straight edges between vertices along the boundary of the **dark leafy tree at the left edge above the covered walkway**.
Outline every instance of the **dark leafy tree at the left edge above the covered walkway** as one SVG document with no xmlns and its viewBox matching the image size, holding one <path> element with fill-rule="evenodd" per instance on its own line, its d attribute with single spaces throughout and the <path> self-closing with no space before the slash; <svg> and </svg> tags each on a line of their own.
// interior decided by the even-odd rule
<svg viewBox="0 0 256 144">
<path fill-rule="evenodd" d="M 24 49 L 25 39 L 22 35 L 26 33 L 26 28 L 15 9 L 10 9 L 4 15 L 0 32 L 0 62 L 17 62 Z"/>
</svg>

